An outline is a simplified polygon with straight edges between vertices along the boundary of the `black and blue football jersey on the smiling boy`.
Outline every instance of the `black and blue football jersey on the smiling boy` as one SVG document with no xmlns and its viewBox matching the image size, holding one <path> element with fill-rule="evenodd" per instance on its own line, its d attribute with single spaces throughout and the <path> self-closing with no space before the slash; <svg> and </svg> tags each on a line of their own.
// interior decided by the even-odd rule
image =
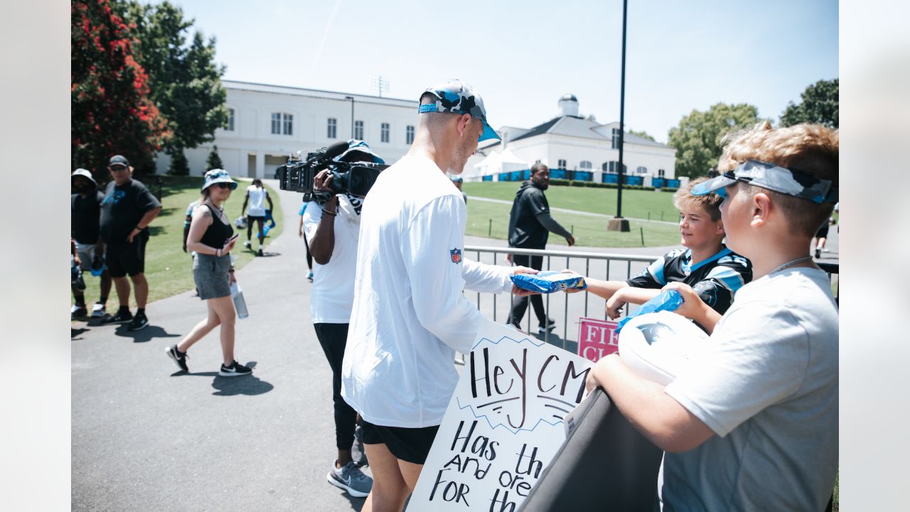
<svg viewBox="0 0 910 512">
<path fill-rule="evenodd" d="M 721 251 L 694 265 L 692 251 L 674 249 L 626 283 L 635 288 L 663 288 L 669 282 L 684 282 L 704 303 L 723 314 L 733 303 L 733 294 L 750 281 L 752 263 L 722 246 Z"/>
</svg>

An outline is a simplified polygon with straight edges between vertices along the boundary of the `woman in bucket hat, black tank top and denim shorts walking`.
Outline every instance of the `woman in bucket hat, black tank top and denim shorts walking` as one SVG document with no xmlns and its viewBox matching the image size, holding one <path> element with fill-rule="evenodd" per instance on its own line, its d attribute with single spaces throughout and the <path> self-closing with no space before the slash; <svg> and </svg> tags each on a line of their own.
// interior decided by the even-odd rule
<svg viewBox="0 0 910 512">
<path fill-rule="evenodd" d="M 202 204 L 193 211 L 189 226 L 187 249 L 196 251 L 193 261 L 193 281 L 199 298 L 206 301 L 208 316 L 196 324 L 180 343 L 167 347 L 165 352 L 174 363 L 188 372 L 187 351 L 212 329 L 221 326 L 221 352 L 224 363 L 218 375 L 234 377 L 251 374 L 252 370 L 239 364 L 234 356 L 234 323 L 237 311 L 230 296 L 230 285 L 237 282 L 230 261 L 230 251 L 238 235 L 224 212 L 224 203 L 237 182 L 224 169 L 211 169 L 202 185 Z"/>
</svg>

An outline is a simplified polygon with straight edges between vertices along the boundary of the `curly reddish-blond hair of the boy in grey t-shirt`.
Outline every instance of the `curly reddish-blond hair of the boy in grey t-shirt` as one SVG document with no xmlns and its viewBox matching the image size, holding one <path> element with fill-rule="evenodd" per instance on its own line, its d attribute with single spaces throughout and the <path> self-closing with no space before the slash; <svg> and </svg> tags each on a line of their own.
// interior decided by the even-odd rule
<svg viewBox="0 0 910 512">
<path fill-rule="evenodd" d="M 721 144 L 723 155 L 717 163 L 717 170 L 722 173 L 735 169 L 747 159 L 756 159 L 800 170 L 818 179 L 829 179 L 832 187 L 838 186 L 840 135 L 836 129 L 810 124 L 772 128 L 771 123 L 762 121 L 753 128 L 727 134 L 721 139 Z M 753 195 L 758 192 L 767 194 L 791 220 L 791 230 L 810 238 L 834 209 L 831 203 L 816 204 L 753 185 L 745 189 Z"/>
</svg>

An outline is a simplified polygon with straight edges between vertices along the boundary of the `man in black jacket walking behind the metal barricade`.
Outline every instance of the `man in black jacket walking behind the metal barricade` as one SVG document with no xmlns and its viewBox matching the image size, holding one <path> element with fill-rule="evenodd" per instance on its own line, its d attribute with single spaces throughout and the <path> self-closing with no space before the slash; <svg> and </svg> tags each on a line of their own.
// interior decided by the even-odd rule
<svg viewBox="0 0 910 512">
<path fill-rule="evenodd" d="M 571 236 L 571 233 L 550 215 L 550 203 L 547 202 L 547 196 L 543 195 L 543 191 L 548 188 L 550 188 L 550 169 L 541 163 L 534 164 L 531 167 L 531 181 L 521 183 L 521 188 L 515 193 L 515 200 L 512 202 L 509 215 L 509 247 L 544 249 L 547 246 L 550 231 L 565 238 L 570 246 L 575 245 L 575 238 Z M 506 259 L 519 266 L 537 270 L 543 268 L 543 256 L 509 254 L 506 255 Z M 533 306 L 540 324 L 538 333 L 543 334 L 556 327 L 556 321 L 547 318 L 541 295 L 531 295 L 531 306 Z M 512 297 L 509 323 L 519 327 L 527 309 L 528 297 Z"/>
</svg>

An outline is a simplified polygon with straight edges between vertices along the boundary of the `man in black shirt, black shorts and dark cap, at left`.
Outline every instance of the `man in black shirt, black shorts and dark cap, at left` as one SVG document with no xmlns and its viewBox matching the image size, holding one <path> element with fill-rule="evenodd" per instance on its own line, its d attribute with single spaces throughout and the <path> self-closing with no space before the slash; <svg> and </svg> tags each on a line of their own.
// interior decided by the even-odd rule
<svg viewBox="0 0 910 512">
<path fill-rule="evenodd" d="M 129 322 L 130 331 L 148 325 L 146 302 L 146 242 L 148 224 L 161 211 L 161 203 L 145 185 L 132 178 L 126 158 L 111 157 L 107 169 L 113 181 L 107 183 L 105 199 L 101 202 L 101 238 L 106 243 L 107 269 L 114 278 L 120 309 L 101 323 Z M 129 312 L 129 275 L 136 290 L 136 316 Z"/>
</svg>

